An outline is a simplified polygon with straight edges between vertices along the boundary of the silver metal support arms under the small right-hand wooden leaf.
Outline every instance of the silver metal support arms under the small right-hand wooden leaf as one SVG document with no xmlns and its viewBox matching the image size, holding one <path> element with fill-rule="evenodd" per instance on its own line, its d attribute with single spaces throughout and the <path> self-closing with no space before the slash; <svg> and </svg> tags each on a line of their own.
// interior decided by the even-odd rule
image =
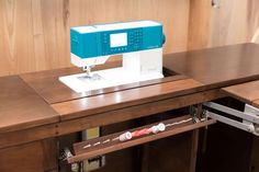
<svg viewBox="0 0 259 172">
<path fill-rule="evenodd" d="M 218 112 L 223 112 L 227 115 L 232 115 L 232 116 L 236 116 L 243 119 L 243 122 L 238 122 L 232 118 L 228 118 L 226 116 L 216 114 L 214 112 L 211 112 L 210 110 L 205 111 L 205 114 L 211 117 L 214 118 L 218 122 L 228 124 L 230 126 L 234 126 L 236 128 L 246 130 L 248 133 L 251 133 L 256 136 L 259 136 L 259 110 L 246 104 L 245 106 L 245 111 L 240 112 L 217 103 L 213 103 L 213 102 L 206 102 L 203 103 L 204 107 L 210 107 L 212 110 L 216 110 Z"/>
</svg>

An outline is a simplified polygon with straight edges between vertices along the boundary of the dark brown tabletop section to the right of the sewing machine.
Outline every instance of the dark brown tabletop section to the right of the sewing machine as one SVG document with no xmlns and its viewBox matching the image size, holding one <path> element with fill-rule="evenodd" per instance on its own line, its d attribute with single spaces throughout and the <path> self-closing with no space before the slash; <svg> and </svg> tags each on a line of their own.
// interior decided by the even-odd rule
<svg viewBox="0 0 259 172">
<path fill-rule="evenodd" d="M 221 88 L 259 79 L 258 57 L 258 45 L 239 44 L 166 55 L 164 67 Z"/>
</svg>

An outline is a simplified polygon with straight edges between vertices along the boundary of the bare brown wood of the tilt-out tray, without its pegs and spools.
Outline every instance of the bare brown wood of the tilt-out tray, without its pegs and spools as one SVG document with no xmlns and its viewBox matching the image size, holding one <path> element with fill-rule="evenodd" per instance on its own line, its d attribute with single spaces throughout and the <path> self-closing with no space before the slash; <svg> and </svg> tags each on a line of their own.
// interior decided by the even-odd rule
<svg viewBox="0 0 259 172">
<path fill-rule="evenodd" d="M 170 123 L 180 122 L 180 121 L 188 119 L 188 118 L 190 118 L 190 115 L 185 115 L 185 116 L 179 117 L 179 118 L 168 119 L 168 121 L 165 121 L 165 122 L 161 122 L 161 123 L 170 124 Z M 89 140 L 89 141 L 75 144 L 74 145 L 74 150 L 75 150 L 76 154 L 75 154 L 75 157 L 68 158 L 67 160 L 68 160 L 69 163 L 81 161 L 81 160 L 89 159 L 89 158 L 92 158 L 92 157 L 95 157 L 95 156 L 105 154 L 105 153 L 109 153 L 109 152 L 112 152 L 112 151 L 126 149 L 126 148 L 130 148 L 130 147 L 134 147 L 136 145 L 150 142 L 150 141 L 161 139 L 161 138 L 165 138 L 165 137 L 170 137 L 170 136 L 178 135 L 178 134 L 181 134 L 181 133 L 184 133 L 184 131 L 201 128 L 201 127 L 214 124 L 214 123 L 215 123 L 214 119 L 210 119 L 207 122 L 196 123 L 196 124 L 195 123 L 193 124 L 193 122 L 189 122 L 189 123 L 185 123 L 185 124 L 178 125 L 176 127 L 167 128 L 165 131 L 158 133 L 156 135 L 147 135 L 147 136 L 143 136 L 143 137 L 139 137 L 139 138 L 127 140 L 127 141 L 116 140 L 114 142 L 104 144 L 104 145 L 95 146 L 95 147 L 92 147 L 92 148 L 83 149 L 83 147 L 89 145 L 89 144 L 93 145 L 98 141 L 103 142 L 106 139 L 113 139 L 113 138 L 119 137 L 121 134 L 123 134 L 123 131 L 122 133 L 115 133 L 115 134 L 108 135 L 108 136 L 97 138 L 97 139 L 92 139 L 92 140 Z M 143 129 L 143 128 L 149 128 L 153 125 L 154 124 L 150 124 L 150 125 L 143 126 L 143 127 L 139 127 L 139 128 L 135 128 L 135 129 L 139 130 L 139 129 Z M 134 129 L 131 129 L 130 131 L 133 131 L 133 130 Z"/>
</svg>

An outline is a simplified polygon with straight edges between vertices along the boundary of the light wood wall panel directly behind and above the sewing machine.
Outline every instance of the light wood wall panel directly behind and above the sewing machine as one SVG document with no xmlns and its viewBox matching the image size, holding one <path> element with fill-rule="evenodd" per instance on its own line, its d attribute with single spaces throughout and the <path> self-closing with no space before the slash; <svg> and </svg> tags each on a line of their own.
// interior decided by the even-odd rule
<svg viewBox="0 0 259 172">
<path fill-rule="evenodd" d="M 185 50 L 188 18 L 189 0 L 70 1 L 71 26 L 133 20 L 162 22 L 167 36 L 165 53 Z"/>
</svg>

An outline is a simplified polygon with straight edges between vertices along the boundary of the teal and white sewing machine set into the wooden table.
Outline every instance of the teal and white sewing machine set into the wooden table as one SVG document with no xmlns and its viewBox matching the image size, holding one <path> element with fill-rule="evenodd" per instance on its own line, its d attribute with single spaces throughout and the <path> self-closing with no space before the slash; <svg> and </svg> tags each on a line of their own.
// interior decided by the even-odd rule
<svg viewBox="0 0 259 172">
<path fill-rule="evenodd" d="M 164 43 L 162 25 L 154 21 L 72 27 L 71 64 L 86 72 L 59 80 L 85 92 L 162 78 Z M 123 55 L 122 67 L 91 71 L 114 55 Z"/>
</svg>

